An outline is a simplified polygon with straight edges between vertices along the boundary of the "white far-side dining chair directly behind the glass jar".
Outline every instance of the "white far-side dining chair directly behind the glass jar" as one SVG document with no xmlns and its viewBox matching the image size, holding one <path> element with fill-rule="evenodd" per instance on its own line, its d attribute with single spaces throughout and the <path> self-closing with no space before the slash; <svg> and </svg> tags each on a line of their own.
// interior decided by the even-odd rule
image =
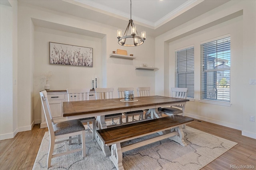
<svg viewBox="0 0 256 170">
<path fill-rule="evenodd" d="M 124 92 L 126 90 L 133 90 L 133 87 L 120 87 L 117 89 L 118 91 L 118 98 L 124 98 Z M 128 112 L 124 112 L 123 113 L 125 115 L 125 118 L 126 118 L 126 123 L 129 122 L 129 116 L 132 116 L 132 121 L 138 121 L 138 120 L 143 120 L 143 114 L 144 114 L 144 111 L 143 110 L 136 110 L 136 111 L 128 111 Z M 134 119 L 134 115 L 139 115 L 139 119 L 136 120 Z"/>
</svg>

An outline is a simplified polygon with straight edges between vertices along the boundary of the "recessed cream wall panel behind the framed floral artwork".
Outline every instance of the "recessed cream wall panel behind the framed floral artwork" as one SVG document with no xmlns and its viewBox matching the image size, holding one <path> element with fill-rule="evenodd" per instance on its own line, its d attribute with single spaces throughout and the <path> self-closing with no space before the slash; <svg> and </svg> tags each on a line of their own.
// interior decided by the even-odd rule
<svg viewBox="0 0 256 170">
<path fill-rule="evenodd" d="M 92 77 L 102 72 L 101 47 L 99 38 L 78 35 L 44 27 L 35 27 L 34 31 L 34 114 L 36 123 L 41 122 L 41 100 L 38 95 L 44 89 L 46 80 L 44 74 L 52 72 L 49 80 L 50 90 L 66 90 L 67 88 L 92 88 Z M 49 64 L 49 42 L 58 42 L 70 45 L 93 48 L 93 67 L 64 66 Z M 94 79 L 95 86 L 95 79 Z M 102 86 L 98 82 L 97 86 Z"/>
</svg>

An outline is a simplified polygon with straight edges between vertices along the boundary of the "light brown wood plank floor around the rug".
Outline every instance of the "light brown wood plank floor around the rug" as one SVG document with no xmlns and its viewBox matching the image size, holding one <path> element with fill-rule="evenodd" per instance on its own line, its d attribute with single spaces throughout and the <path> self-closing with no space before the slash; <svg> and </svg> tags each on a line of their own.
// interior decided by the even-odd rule
<svg viewBox="0 0 256 170">
<path fill-rule="evenodd" d="M 195 120 L 188 126 L 238 143 L 202 170 L 225 170 L 230 169 L 230 165 L 256 168 L 256 139 L 242 136 L 241 131 L 204 121 Z M 40 129 L 37 124 L 31 131 L 19 132 L 13 139 L 0 141 L 0 169 L 31 170 L 46 131 L 47 128 Z"/>
</svg>

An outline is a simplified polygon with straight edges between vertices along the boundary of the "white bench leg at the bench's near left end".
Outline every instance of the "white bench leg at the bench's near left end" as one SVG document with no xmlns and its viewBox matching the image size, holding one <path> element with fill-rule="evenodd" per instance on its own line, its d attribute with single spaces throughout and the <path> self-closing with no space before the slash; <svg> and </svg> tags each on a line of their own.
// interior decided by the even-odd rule
<svg viewBox="0 0 256 170">
<path fill-rule="evenodd" d="M 122 164 L 123 155 L 120 143 L 111 145 L 111 156 L 109 158 L 112 160 L 117 170 L 124 170 L 124 166 Z"/>
</svg>

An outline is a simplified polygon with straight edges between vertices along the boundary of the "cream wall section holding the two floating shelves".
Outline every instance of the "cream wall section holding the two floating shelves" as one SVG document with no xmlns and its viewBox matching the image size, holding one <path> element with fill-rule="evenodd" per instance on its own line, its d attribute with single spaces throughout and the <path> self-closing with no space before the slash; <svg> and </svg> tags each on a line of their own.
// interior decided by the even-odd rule
<svg viewBox="0 0 256 170">
<path fill-rule="evenodd" d="M 155 94 L 155 71 L 150 70 L 135 70 L 135 66 L 140 66 L 142 63 L 148 66 L 155 66 L 154 59 L 154 38 L 148 36 L 145 43 L 138 47 L 122 47 L 118 45 L 115 36 L 116 29 L 112 30 L 111 37 L 107 43 L 106 57 L 106 78 L 107 87 L 114 87 L 114 97 L 118 97 L 118 87 L 133 87 L 137 96 L 136 87 L 150 86 L 150 94 Z M 134 60 L 123 60 L 110 58 L 109 55 L 116 49 L 124 49 L 128 55 L 134 54 Z"/>
</svg>

